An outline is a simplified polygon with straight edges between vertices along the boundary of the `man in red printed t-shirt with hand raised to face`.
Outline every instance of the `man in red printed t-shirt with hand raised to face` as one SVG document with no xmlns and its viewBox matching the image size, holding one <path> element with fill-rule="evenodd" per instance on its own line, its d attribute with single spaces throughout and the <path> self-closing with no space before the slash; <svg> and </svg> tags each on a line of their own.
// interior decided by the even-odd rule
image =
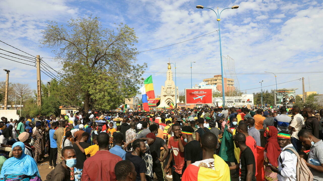
<svg viewBox="0 0 323 181">
<path fill-rule="evenodd" d="M 168 140 L 168 149 L 172 148 L 170 158 L 168 160 L 165 171 L 169 168 L 172 159 L 175 161 L 175 169 L 172 173 L 173 181 L 181 181 L 182 178 L 182 169 L 184 167 L 184 139 L 182 138 L 181 126 L 178 123 L 172 125 L 172 131 L 174 136 Z"/>
</svg>

